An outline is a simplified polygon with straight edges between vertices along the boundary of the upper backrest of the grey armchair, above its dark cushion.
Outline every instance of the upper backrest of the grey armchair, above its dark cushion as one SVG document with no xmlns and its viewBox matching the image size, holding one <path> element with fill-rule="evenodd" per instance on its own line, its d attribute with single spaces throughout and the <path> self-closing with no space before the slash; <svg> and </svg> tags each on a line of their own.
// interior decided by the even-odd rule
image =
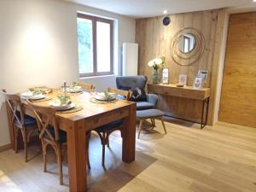
<svg viewBox="0 0 256 192">
<path fill-rule="evenodd" d="M 143 75 L 138 76 L 120 76 L 116 78 L 116 86 L 119 90 L 131 90 L 138 87 L 141 90 L 145 89 L 148 78 Z"/>
</svg>

